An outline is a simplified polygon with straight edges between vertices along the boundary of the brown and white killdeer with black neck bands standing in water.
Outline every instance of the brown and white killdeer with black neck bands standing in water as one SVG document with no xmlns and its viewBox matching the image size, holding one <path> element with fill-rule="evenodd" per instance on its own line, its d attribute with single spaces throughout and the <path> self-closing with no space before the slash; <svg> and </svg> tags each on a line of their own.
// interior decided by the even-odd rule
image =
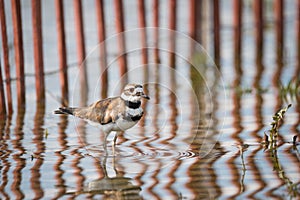
<svg viewBox="0 0 300 200">
<path fill-rule="evenodd" d="M 106 139 L 112 131 L 125 131 L 133 127 L 143 116 L 142 98 L 150 99 L 139 84 L 127 84 L 121 96 L 99 100 L 87 107 L 61 107 L 55 114 L 68 114 L 84 119 L 93 125 L 100 124 L 104 133 L 104 148 Z M 113 140 L 113 151 L 117 134 Z M 106 152 L 107 153 L 107 152 Z"/>
</svg>

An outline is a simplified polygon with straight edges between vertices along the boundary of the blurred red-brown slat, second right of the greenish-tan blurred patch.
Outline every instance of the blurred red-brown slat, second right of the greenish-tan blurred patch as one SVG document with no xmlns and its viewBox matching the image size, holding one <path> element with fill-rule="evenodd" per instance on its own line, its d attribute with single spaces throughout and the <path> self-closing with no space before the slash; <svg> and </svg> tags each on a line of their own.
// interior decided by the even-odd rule
<svg viewBox="0 0 300 200">
<path fill-rule="evenodd" d="M 241 47 L 242 47 L 242 8 L 243 2 L 241 0 L 233 0 L 233 40 L 234 40 L 234 55 L 235 62 L 239 62 Z"/>
</svg>

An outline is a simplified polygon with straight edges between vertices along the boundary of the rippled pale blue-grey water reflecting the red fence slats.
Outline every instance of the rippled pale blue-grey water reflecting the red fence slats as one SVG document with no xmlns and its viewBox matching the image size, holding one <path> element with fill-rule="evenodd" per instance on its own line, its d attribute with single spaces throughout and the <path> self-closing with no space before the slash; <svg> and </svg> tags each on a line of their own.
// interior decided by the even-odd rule
<svg viewBox="0 0 300 200">
<path fill-rule="evenodd" d="M 27 16 L 29 1 L 23 5 Z M 180 5 L 181 10 L 187 6 L 183 2 Z M 53 5 L 47 6 L 44 19 L 49 19 L 48 28 L 55 27 Z M 93 4 L 85 6 L 88 10 Z M 111 6 L 107 3 L 108 10 Z M 290 6 L 293 5 L 287 8 Z M 228 7 L 223 4 L 225 24 Z M 76 62 L 74 42 L 70 42 L 74 39 L 72 11 L 66 9 L 69 63 Z M 248 12 L 246 9 L 247 17 L 251 16 Z M 160 63 L 155 63 L 153 28 L 146 29 L 149 64 L 144 66 L 138 42 L 140 30 L 132 30 L 136 27 L 135 14 L 130 13 L 127 26 L 131 31 L 125 34 L 128 82 L 144 83 L 151 100 L 143 104 L 145 117 L 138 125 L 119 135 L 115 156 L 110 143 L 109 155 L 105 156 L 104 136 L 99 128 L 53 114 L 60 106 L 57 73 L 46 75 L 46 106 L 36 104 L 34 77 L 30 76 L 31 32 L 25 28 L 26 108 L 15 108 L 11 117 L 0 121 L 0 198 L 299 198 L 299 142 L 292 144 L 293 136 L 300 137 L 299 85 L 292 85 L 296 93 L 282 87 L 297 77 L 294 72 L 300 66 L 299 47 L 293 39 L 294 14 L 287 15 L 283 52 L 275 51 L 273 29 L 265 30 L 265 53 L 261 60 L 255 57 L 249 21 L 246 20 L 241 62 L 233 62 L 231 29 L 222 29 L 218 71 L 199 44 L 183 33 L 173 33 L 176 45 L 174 54 L 170 54 L 172 32 L 166 29 L 158 30 Z M 109 13 L 107 16 L 112 18 Z M 89 104 L 100 98 L 99 46 L 92 12 L 86 12 L 85 19 L 88 91 L 81 93 L 78 68 L 70 64 L 70 105 Z M 179 20 L 178 29 L 185 32 L 187 25 L 183 22 L 184 19 Z M 24 24 L 26 27 L 28 21 Z M 109 33 L 112 26 L 113 22 L 108 24 Z M 57 70 L 55 36 L 45 31 L 44 37 L 45 69 Z M 108 96 L 118 95 L 122 85 L 116 44 L 116 35 L 106 41 Z M 12 87 L 15 91 L 15 83 Z M 270 129 L 273 114 L 289 103 L 292 107 L 280 127 L 277 147 L 263 146 L 264 132 Z"/>
</svg>

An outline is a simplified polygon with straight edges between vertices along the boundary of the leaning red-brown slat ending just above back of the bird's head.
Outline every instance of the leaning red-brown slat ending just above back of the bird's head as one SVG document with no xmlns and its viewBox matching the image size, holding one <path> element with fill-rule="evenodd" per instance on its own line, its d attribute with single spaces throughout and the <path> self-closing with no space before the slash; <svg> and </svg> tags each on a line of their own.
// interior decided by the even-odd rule
<svg viewBox="0 0 300 200">
<path fill-rule="evenodd" d="M 119 49 L 120 49 L 120 76 L 123 76 L 127 72 L 127 59 L 126 59 L 126 47 L 125 47 L 125 38 L 124 38 L 124 14 L 123 14 L 123 1 L 115 0 L 115 14 L 116 14 L 116 29 L 119 34 Z M 125 81 L 127 78 L 125 76 Z"/>
</svg>

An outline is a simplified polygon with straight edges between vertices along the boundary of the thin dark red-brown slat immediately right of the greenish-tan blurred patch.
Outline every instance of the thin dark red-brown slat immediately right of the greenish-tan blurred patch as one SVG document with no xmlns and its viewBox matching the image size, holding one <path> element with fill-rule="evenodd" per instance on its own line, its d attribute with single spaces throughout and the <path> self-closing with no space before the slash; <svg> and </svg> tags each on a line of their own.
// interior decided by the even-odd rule
<svg viewBox="0 0 300 200">
<path fill-rule="evenodd" d="M 213 24 L 214 24 L 214 57 L 220 67 L 220 5 L 219 0 L 213 0 Z"/>
</svg>

